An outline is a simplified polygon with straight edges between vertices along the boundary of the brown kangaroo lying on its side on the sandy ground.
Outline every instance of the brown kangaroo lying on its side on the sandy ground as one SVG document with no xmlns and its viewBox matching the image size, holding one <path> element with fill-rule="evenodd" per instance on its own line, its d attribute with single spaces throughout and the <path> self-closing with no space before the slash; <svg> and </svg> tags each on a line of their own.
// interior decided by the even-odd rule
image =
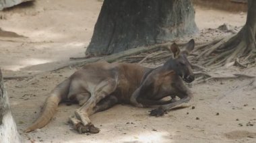
<svg viewBox="0 0 256 143">
<path fill-rule="evenodd" d="M 117 103 L 129 103 L 139 107 L 157 106 L 150 113 L 155 116 L 187 103 L 192 95 L 182 79 L 189 83 L 194 80 L 191 64 L 187 60 L 194 45 L 194 40 L 190 40 L 181 52 L 177 44 L 172 44 L 172 58 L 158 68 L 108 62 L 86 64 L 53 89 L 44 103 L 40 117 L 25 132 L 48 124 L 58 104 L 67 99 L 81 105 L 70 117 L 71 124 L 80 134 L 98 133 L 100 130 L 94 127 L 89 116 Z M 172 99 L 161 100 L 167 96 Z M 176 96 L 180 100 L 176 101 Z"/>
</svg>

